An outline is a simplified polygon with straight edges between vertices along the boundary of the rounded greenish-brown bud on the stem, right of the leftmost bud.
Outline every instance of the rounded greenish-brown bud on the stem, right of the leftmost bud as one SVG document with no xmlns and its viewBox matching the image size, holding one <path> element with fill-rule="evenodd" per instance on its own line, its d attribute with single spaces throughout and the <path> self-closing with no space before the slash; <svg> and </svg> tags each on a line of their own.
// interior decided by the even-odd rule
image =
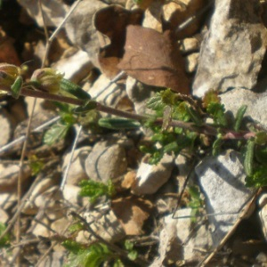
<svg viewBox="0 0 267 267">
<path fill-rule="evenodd" d="M 55 69 L 44 68 L 36 69 L 30 80 L 35 84 L 36 89 L 48 93 L 58 93 L 61 89 L 62 78 L 63 75 Z"/>
</svg>

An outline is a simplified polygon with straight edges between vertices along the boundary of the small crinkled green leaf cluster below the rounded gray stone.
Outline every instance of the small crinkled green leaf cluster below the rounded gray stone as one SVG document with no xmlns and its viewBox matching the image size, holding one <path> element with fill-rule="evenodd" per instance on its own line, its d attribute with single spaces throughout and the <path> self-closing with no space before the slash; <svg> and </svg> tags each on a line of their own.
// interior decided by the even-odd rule
<svg viewBox="0 0 267 267">
<path fill-rule="evenodd" d="M 111 198 L 115 194 L 115 187 L 109 180 L 108 184 L 94 182 L 92 180 L 83 180 L 79 183 L 81 187 L 80 196 L 89 197 L 90 202 L 94 203 L 97 198 L 107 196 Z"/>
</svg>

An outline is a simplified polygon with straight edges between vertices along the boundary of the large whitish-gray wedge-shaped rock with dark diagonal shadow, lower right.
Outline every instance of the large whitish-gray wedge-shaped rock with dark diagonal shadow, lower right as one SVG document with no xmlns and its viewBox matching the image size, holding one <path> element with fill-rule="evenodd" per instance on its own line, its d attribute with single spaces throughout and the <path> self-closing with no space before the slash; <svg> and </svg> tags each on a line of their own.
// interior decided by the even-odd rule
<svg viewBox="0 0 267 267">
<path fill-rule="evenodd" d="M 216 246 L 231 230 L 253 192 L 245 186 L 244 167 L 234 150 L 204 158 L 195 170 L 206 195 L 206 213 L 214 214 L 208 219 Z"/>
</svg>

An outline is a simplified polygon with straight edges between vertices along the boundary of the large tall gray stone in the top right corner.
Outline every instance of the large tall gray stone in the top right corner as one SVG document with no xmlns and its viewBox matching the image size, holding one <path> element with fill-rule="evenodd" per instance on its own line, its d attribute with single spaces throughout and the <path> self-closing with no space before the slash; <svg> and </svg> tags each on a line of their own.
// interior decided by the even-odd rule
<svg viewBox="0 0 267 267">
<path fill-rule="evenodd" d="M 215 1 L 210 28 L 201 44 L 194 95 L 256 85 L 267 36 L 258 4 L 258 0 Z"/>
</svg>

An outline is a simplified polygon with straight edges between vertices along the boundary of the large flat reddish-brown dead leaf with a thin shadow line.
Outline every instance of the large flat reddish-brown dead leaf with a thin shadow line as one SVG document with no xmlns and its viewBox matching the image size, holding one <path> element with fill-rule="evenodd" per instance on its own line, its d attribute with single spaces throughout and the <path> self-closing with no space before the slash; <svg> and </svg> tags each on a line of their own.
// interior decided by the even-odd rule
<svg viewBox="0 0 267 267">
<path fill-rule="evenodd" d="M 144 84 L 190 93 L 182 56 L 170 32 L 160 34 L 151 28 L 128 26 L 125 55 L 117 67 Z"/>
</svg>

